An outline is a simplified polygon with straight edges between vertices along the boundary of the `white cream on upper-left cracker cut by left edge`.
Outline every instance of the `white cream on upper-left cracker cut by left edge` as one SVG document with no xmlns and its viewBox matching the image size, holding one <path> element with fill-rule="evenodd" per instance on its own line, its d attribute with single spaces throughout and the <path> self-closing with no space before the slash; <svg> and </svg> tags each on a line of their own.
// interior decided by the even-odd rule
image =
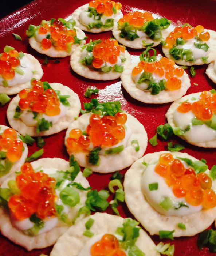
<svg viewBox="0 0 216 256">
<path fill-rule="evenodd" d="M 23 56 L 19 60 L 20 65 L 17 68 L 20 68 L 24 72 L 24 74 L 21 75 L 15 72 L 15 76 L 11 80 L 7 80 L 9 87 L 29 82 L 33 77 L 32 71 L 34 71 L 34 68 L 32 67 L 31 61 L 26 56 Z M 0 86 L 3 86 L 2 81 L 3 78 L 0 76 Z"/>
</svg>

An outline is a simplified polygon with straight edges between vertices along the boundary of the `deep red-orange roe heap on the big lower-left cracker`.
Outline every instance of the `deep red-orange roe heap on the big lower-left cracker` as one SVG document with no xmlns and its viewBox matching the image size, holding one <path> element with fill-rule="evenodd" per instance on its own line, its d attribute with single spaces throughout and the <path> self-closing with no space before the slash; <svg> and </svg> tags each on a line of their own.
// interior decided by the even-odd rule
<svg viewBox="0 0 216 256">
<path fill-rule="evenodd" d="M 38 218 L 56 215 L 54 178 L 43 172 L 34 172 L 31 163 L 24 163 L 16 177 L 19 195 L 10 197 L 8 207 L 19 221 L 36 214 Z"/>
</svg>

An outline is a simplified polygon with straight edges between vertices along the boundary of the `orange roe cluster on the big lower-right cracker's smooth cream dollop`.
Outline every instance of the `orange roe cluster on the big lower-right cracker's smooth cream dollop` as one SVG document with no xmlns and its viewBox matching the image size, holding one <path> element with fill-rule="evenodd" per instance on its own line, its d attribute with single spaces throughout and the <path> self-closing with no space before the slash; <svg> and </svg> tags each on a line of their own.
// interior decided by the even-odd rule
<svg viewBox="0 0 216 256">
<path fill-rule="evenodd" d="M 216 206 L 216 195 L 211 189 L 212 181 L 206 173 L 196 174 L 192 168 L 185 168 L 183 163 L 174 159 L 170 153 L 160 155 L 154 170 L 165 178 L 166 184 L 172 187 L 177 198 L 185 197 L 186 202 L 192 206 Z"/>
</svg>

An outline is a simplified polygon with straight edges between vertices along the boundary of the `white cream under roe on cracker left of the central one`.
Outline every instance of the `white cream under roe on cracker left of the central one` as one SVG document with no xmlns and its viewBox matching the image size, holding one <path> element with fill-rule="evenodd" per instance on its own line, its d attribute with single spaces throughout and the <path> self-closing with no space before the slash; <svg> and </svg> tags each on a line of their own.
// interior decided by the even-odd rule
<svg viewBox="0 0 216 256">
<path fill-rule="evenodd" d="M 64 106 L 62 103 L 60 103 L 60 114 L 56 116 L 47 116 L 46 114 L 40 114 L 40 119 L 44 118 L 48 122 L 52 122 L 52 124 L 55 124 L 59 121 L 60 118 L 64 117 L 67 112 L 67 107 Z M 31 111 L 24 110 L 23 114 L 20 115 L 20 119 L 25 123 L 27 126 L 36 126 L 37 121 L 33 119 L 34 115 Z"/>
</svg>

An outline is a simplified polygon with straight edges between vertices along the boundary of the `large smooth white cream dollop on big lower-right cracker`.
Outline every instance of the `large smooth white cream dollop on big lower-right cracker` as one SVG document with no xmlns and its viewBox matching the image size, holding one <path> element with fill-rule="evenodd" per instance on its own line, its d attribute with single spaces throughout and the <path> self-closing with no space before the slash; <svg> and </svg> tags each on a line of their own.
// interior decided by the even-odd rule
<svg viewBox="0 0 216 256">
<path fill-rule="evenodd" d="M 158 160 L 158 159 L 157 159 Z M 182 161 L 184 166 L 185 162 Z M 155 172 L 156 163 L 148 165 L 142 175 L 141 179 L 141 188 L 144 196 L 148 203 L 158 212 L 166 216 L 184 216 L 188 214 L 193 214 L 199 212 L 202 209 L 202 206 L 192 206 L 188 204 L 184 197 L 177 198 L 174 196 L 172 188 L 168 187 L 165 182 L 165 179 Z M 149 190 L 149 184 L 158 183 L 157 190 Z M 173 207 L 166 211 L 160 206 L 160 203 L 166 198 L 169 197 L 172 200 Z M 182 202 L 185 203 L 188 207 L 181 207 L 179 209 L 174 209 L 178 207 L 178 204 Z"/>
</svg>

